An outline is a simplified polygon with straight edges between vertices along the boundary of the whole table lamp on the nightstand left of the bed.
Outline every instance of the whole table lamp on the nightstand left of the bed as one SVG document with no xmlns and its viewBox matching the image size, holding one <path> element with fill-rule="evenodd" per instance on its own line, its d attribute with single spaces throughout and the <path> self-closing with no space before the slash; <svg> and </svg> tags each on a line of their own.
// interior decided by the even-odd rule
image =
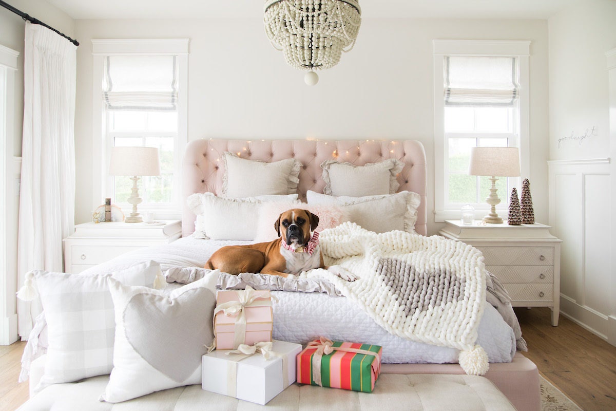
<svg viewBox="0 0 616 411">
<path fill-rule="evenodd" d="M 139 197 L 137 181 L 140 176 L 160 176 L 158 149 L 154 147 L 111 147 L 109 174 L 131 177 L 132 190 L 128 203 L 132 204 L 132 213 L 124 221 L 143 222 L 144 219 L 137 211 L 137 204 L 142 201 Z"/>
</svg>

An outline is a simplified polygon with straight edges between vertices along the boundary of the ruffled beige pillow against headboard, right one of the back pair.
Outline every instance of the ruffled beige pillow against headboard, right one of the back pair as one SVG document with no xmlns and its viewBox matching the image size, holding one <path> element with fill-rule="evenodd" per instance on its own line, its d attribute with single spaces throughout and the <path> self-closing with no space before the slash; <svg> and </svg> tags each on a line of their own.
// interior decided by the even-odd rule
<svg viewBox="0 0 616 411">
<path fill-rule="evenodd" d="M 321 163 L 321 168 L 325 181 L 323 193 L 336 197 L 363 197 L 397 192 L 400 187 L 397 174 L 404 168 L 404 163 L 389 158 L 379 163 L 355 166 L 351 163 L 326 160 Z"/>
</svg>

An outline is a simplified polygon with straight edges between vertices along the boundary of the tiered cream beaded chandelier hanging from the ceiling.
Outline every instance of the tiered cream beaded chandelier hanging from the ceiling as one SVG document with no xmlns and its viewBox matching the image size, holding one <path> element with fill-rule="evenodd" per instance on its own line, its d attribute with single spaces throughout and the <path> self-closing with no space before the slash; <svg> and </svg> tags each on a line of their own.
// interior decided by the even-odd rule
<svg viewBox="0 0 616 411">
<path fill-rule="evenodd" d="M 351 51 L 362 23 L 358 0 L 265 0 L 264 9 L 270 42 L 291 67 L 308 71 L 310 85 L 317 84 L 315 70 L 334 67 L 342 51 Z"/>
</svg>

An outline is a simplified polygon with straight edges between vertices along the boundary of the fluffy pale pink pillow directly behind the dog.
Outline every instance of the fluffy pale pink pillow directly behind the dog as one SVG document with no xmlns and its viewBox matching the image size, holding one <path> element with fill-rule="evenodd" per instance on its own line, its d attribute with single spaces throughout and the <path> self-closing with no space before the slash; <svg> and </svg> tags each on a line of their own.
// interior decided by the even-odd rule
<svg viewBox="0 0 616 411">
<path fill-rule="evenodd" d="M 254 239 L 256 243 L 272 241 L 278 238 L 278 233 L 274 229 L 274 222 L 278 219 L 281 213 L 291 208 L 302 208 L 310 211 L 318 216 L 317 231 L 321 232 L 325 229 L 331 229 L 338 226 L 344 219 L 344 211 L 335 205 L 308 205 L 306 203 L 282 203 L 270 202 L 263 203 L 259 210 L 259 218 L 257 219 L 257 236 Z"/>
</svg>

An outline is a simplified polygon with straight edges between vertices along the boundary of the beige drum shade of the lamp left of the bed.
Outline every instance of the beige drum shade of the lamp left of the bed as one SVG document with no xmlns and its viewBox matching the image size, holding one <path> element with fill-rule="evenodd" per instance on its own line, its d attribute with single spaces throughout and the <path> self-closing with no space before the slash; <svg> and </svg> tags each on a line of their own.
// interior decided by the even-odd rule
<svg viewBox="0 0 616 411">
<path fill-rule="evenodd" d="M 160 176 L 155 147 L 111 147 L 111 176 Z"/>
</svg>

